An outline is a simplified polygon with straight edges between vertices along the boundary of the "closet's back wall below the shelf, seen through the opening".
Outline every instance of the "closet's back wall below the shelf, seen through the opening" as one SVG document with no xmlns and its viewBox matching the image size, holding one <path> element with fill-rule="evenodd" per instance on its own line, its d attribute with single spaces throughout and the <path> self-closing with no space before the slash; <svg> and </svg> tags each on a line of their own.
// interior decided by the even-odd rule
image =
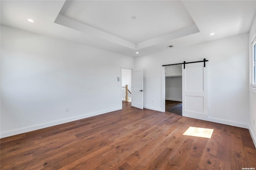
<svg viewBox="0 0 256 170">
<path fill-rule="evenodd" d="M 165 99 L 182 101 L 182 77 L 165 78 Z"/>
</svg>

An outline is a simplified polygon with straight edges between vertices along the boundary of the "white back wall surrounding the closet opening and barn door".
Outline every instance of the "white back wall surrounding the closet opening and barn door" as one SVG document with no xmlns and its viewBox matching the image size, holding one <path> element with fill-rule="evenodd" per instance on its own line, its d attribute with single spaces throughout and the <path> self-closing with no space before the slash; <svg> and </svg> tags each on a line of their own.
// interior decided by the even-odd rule
<svg viewBox="0 0 256 170">
<path fill-rule="evenodd" d="M 144 108 L 162 110 L 162 65 L 208 59 L 208 119 L 248 127 L 248 34 L 136 57 L 144 71 Z M 145 97 L 146 96 L 146 97 Z M 152 102 L 154 100 L 154 103 Z"/>
</svg>

